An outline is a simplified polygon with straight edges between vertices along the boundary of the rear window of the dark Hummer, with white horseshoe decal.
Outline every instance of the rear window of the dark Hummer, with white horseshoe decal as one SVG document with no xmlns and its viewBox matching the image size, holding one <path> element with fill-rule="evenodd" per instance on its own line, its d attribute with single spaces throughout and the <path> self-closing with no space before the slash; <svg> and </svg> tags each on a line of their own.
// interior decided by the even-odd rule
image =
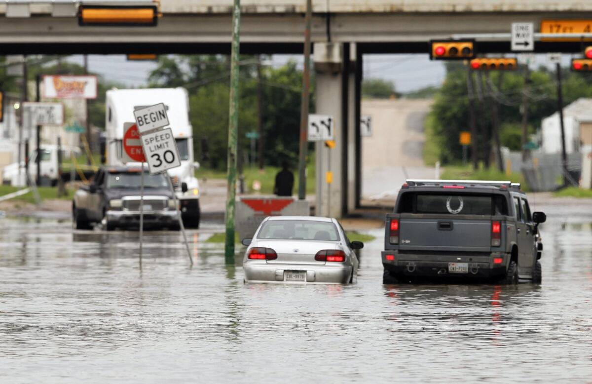
<svg viewBox="0 0 592 384">
<path fill-rule="evenodd" d="M 495 194 L 404 193 L 398 213 L 436 215 L 507 215 L 506 199 Z"/>
</svg>

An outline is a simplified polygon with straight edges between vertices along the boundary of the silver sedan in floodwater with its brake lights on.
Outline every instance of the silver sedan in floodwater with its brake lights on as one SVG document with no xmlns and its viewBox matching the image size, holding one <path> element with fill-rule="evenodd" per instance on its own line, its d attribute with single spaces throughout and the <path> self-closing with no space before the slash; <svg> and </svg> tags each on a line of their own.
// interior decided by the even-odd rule
<svg viewBox="0 0 592 384">
<path fill-rule="evenodd" d="M 355 283 L 358 257 L 335 219 L 272 216 L 259 225 L 247 245 L 243 269 L 246 283 Z"/>
</svg>

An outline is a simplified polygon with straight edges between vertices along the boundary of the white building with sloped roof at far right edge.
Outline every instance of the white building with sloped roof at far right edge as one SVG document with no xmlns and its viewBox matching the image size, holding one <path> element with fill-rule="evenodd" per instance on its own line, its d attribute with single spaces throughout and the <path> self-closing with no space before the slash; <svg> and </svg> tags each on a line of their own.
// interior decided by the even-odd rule
<svg viewBox="0 0 592 384">
<path fill-rule="evenodd" d="M 592 121 L 592 99 L 580 98 L 564 107 L 565 152 L 580 152 L 584 137 L 581 136 L 582 123 Z M 541 122 L 542 152 L 561 153 L 561 126 L 559 113 L 555 112 Z"/>
</svg>

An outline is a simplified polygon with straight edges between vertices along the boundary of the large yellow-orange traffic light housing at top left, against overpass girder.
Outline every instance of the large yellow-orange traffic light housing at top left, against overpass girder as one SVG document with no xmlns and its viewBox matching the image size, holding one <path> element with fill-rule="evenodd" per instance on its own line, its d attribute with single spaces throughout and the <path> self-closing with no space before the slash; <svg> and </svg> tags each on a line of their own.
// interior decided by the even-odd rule
<svg viewBox="0 0 592 384">
<path fill-rule="evenodd" d="M 78 25 L 99 27 L 155 27 L 157 5 L 83 5 L 78 8 Z"/>
</svg>

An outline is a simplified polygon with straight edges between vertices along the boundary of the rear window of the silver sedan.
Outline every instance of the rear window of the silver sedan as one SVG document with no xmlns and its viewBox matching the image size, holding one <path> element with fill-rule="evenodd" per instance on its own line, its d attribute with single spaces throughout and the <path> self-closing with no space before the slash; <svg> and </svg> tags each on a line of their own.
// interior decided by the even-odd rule
<svg viewBox="0 0 592 384">
<path fill-rule="evenodd" d="M 339 241 L 333 223 L 307 220 L 268 220 L 263 223 L 258 239 L 294 239 Z"/>
</svg>

